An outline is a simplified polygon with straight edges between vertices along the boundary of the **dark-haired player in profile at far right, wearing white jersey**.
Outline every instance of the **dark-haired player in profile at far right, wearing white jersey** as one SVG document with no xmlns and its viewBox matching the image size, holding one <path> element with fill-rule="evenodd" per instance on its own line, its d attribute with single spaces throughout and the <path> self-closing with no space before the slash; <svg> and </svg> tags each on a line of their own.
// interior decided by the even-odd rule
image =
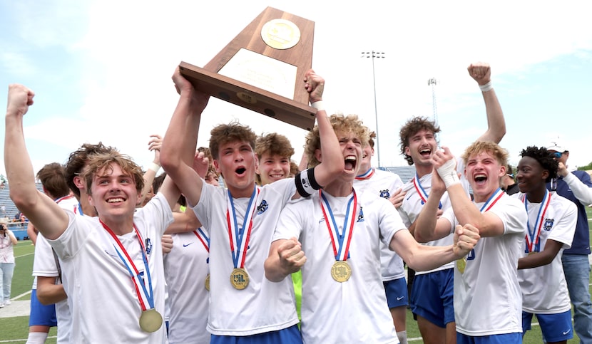
<svg viewBox="0 0 592 344">
<path fill-rule="evenodd" d="M 569 199 L 546 189 L 557 177 L 558 162 L 544 147 L 526 147 L 516 167 L 519 194 L 529 214 L 525 245 L 520 250 L 518 281 L 522 289 L 522 328 L 531 329 L 532 316 L 541 325 L 546 343 L 573 338 L 571 301 L 561 264 L 576 232 L 578 209 Z"/>
</svg>

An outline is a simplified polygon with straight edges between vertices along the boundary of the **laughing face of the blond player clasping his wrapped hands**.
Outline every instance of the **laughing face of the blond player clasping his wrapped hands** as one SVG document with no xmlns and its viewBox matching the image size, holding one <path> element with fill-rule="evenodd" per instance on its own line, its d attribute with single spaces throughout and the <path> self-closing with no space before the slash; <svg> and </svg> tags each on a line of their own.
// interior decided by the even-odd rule
<svg viewBox="0 0 592 344">
<path fill-rule="evenodd" d="M 498 189 L 499 178 L 506 174 L 506 166 L 490 152 L 482 151 L 466 159 L 464 174 L 473 188 L 475 202 L 486 202 Z"/>
</svg>

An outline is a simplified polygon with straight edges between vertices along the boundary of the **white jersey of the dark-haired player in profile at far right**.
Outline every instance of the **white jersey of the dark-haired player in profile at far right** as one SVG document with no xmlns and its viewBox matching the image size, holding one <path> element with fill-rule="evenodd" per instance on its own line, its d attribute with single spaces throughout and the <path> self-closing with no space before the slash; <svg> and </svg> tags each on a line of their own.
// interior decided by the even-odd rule
<svg viewBox="0 0 592 344">
<path fill-rule="evenodd" d="M 524 202 L 525 194 L 520 192 L 513 194 L 512 197 Z M 561 264 L 561 253 L 564 249 L 571 247 L 573 234 L 576 232 L 578 209 L 576 204 L 558 194 L 549 193 L 548 197 L 550 197 L 548 207 L 545 207 L 546 202 L 543 202 L 541 216 L 539 216 L 541 203 L 526 202 L 530 231 L 534 232 L 541 226 L 539 245 L 535 246 L 534 251 L 543 251 L 548 239 L 561 242 L 563 246 L 550 264 L 518 271 L 518 281 L 522 290 L 522 310 L 535 314 L 556 314 L 571 309 L 566 278 Z M 526 246 L 525 241 L 521 247 L 519 258 L 528 254 Z"/>
</svg>

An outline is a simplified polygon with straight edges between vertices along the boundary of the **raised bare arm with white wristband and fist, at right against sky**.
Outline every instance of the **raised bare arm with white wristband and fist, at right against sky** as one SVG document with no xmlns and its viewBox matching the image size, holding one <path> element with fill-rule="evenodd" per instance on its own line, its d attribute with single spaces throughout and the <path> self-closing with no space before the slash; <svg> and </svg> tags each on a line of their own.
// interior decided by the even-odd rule
<svg viewBox="0 0 592 344">
<path fill-rule="evenodd" d="M 497 99 L 496 91 L 491 85 L 491 68 L 489 63 L 471 63 L 468 68 L 471 78 L 479 84 L 481 94 L 485 102 L 485 112 L 487 114 L 487 130 L 477 141 L 493 141 L 499 143 L 506 135 L 506 121 L 504 113 L 501 111 L 501 105 Z"/>
</svg>

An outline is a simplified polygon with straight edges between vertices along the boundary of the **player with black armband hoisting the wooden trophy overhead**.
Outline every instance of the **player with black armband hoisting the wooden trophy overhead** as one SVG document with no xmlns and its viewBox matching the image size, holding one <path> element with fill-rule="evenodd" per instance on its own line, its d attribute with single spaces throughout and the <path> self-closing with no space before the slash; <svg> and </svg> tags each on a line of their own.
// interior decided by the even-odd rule
<svg viewBox="0 0 592 344">
<path fill-rule="evenodd" d="M 301 172 L 296 179 L 257 187 L 255 133 L 239 123 L 218 125 L 210 132 L 210 151 L 228 189 L 205 184 L 192 167 L 207 96 L 195 91 L 178 69 L 173 81 L 180 98 L 164 138 L 160 162 L 188 203 L 194 205 L 203 226 L 210 229 L 208 330 L 212 343 L 301 343 L 292 281 L 268 281 L 263 262 L 284 205 L 308 189 L 314 192 L 328 184 L 343 170 L 337 137 L 322 108 L 325 80 L 314 71 L 305 75 L 310 102 L 317 107 L 327 162 Z"/>
</svg>

